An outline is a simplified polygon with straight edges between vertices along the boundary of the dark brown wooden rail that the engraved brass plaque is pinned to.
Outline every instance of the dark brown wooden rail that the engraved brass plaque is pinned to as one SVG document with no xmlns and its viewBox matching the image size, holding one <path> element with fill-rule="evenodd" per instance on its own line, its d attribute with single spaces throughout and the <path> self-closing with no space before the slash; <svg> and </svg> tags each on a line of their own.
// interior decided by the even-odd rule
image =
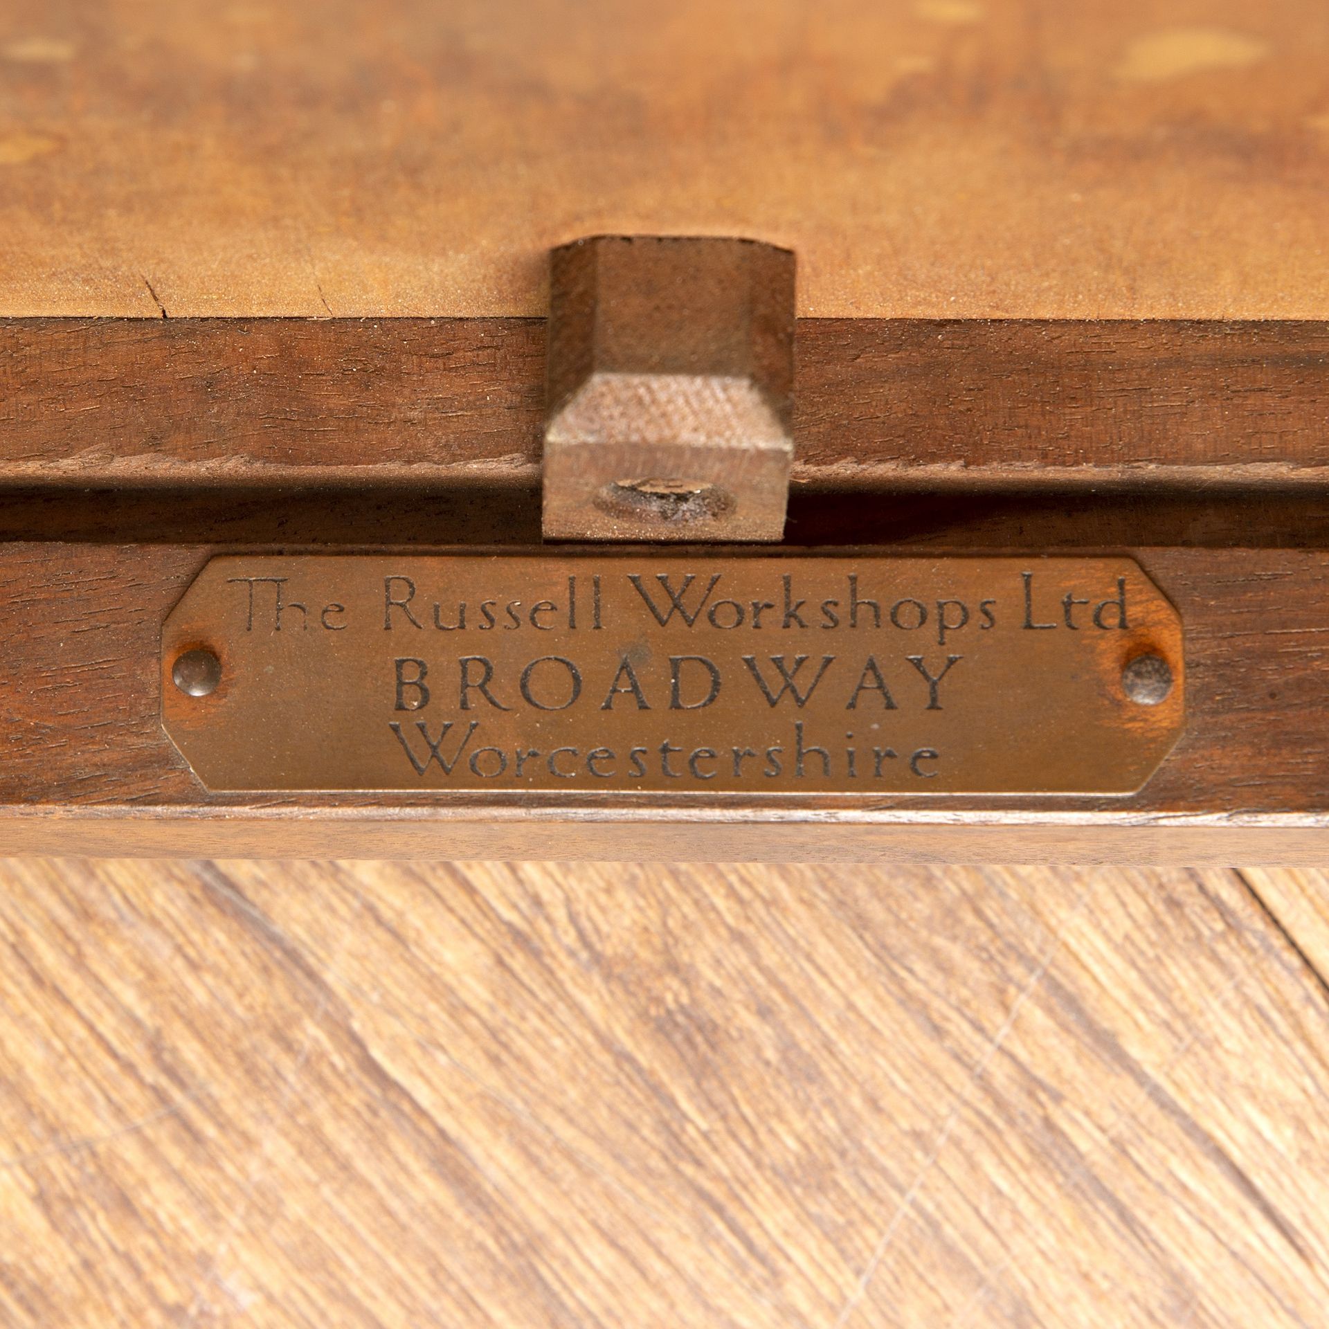
<svg viewBox="0 0 1329 1329">
<path fill-rule="evenodd" d="M 977 831 L 975 843 L 983 843 L 985 828 L 978 852 L 986 861 L 1026 855 L 1025 861 L 1059 855 L 1111 861 L 1116 841 L 1116 852 L 1147 861 L 1160 861 L 1150 855 L 1322 860 L 1329 556 L 1136 553 L 1185 625 L 1188 714 L 1176 748 L 1135 795 L 1054 803 L 788 795 L 779 808 L 740 795 L 662 796 L 650 809 L 611 800 L 569 809 L 522 793 L 206 793 L 162 731 L 158 658 L 165 615 L 209 550 L 7 545 L 0 549 L 0 605 L 11 629 L 0 641 L 3 844 L 9 852 L 52 852 L 68 835 L 81 836 L 76 852 L 106 852 L 125 835 L 133 837 L 125 849 L 181 853 L 193 836 L 221 835 L 233 839 L 210 844 L 279 856 L 319 856 L 334 847 L 347 856 L 530 856 L 557 845 L 569 857 L 668 860 L 679 825 L 688 824 L 694 856 L 708 860 L 964 857 L 964 833 Z M 914 832 L 912 849 L 901 828 Z M 1138 829 L 1152 833 L 1132 839 Z M 1053 839 L 1041 840 L 1042 831 Z M 1167 847 L 1170 839 L 1175 844 Z"/>
</svg>

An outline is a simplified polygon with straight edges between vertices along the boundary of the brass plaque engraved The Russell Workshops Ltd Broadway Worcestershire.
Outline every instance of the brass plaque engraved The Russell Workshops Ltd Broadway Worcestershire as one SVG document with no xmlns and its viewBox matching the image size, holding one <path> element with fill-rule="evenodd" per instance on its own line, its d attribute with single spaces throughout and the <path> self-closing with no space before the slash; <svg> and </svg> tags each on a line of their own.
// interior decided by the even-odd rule
<svg viewBox="0 0 1329 1329">
<path fill-rule="evenodd" d="M 223 557 L 161 687 L 218 791 L 1130 793 L 1184 716 L 1128 558 Z"/>
</svg>

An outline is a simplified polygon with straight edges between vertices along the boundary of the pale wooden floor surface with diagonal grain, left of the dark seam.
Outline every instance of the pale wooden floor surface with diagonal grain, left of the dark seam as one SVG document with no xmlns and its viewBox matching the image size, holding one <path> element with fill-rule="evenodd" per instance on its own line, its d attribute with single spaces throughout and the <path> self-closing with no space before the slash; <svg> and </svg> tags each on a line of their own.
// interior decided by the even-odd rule
<svg viewBox="0 0 1329 1329">
<path fill-rule="evenodd" d="M 12 1329 L 1324 1320 L 1329 998 L 1231 872 L 3 884 Z"/>
</svg>

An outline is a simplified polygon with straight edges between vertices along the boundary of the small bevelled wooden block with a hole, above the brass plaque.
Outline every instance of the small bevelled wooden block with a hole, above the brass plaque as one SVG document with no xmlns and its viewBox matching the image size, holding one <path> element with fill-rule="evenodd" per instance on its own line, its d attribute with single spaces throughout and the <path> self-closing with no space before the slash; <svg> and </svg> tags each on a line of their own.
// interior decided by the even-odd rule
<svg viewBox="0 0 1329 1329">
<path fill-rule="evenodd" d="M 597 237 L 553 251 L 548 540 L 776 541 L 793 461 L 793 254 Z"/>
</svg>

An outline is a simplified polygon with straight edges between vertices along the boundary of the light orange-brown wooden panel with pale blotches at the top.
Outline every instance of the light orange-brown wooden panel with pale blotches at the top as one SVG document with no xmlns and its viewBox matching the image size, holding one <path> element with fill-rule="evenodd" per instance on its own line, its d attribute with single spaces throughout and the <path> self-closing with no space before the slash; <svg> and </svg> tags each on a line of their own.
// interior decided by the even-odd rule
<svg viewBox="0 0 1329 1329">
<path fill-rule="evenodd" d="M 11 0 L 0 312 L 542 312 L 605 231 L 815 315 L 1324 318 L 1318 0 Z"/>
</svg>

